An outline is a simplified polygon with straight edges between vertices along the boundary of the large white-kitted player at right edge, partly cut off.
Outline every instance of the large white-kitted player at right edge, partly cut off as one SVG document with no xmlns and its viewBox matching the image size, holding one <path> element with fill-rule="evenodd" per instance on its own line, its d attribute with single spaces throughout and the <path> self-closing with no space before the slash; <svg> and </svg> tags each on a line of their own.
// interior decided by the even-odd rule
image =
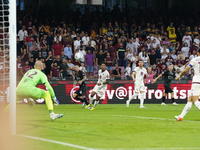
<svg viewBox="0 0 200 150">
<path fill-rule="evenodd" d="M 192 104 L 200 110 L 200 102 L 198 101 L 200 96 L 200 48 L 197 50 L 197 55 L 198 57 L 193 58 L 190 61 L 189 65 L 181 72 L 180 76 L 175 78 L 176 80 L 180 80 L 181 77 L 190 70 L 190 68 L 194 69 L 195 75 L 192 79 L 191 96 L 189 96 L 188 102 L 183 108 L 182 113 L 179 116 L 175 116 L 177 121 L 182 121 L 184 116 L 191 109 Z"/>
</svg>

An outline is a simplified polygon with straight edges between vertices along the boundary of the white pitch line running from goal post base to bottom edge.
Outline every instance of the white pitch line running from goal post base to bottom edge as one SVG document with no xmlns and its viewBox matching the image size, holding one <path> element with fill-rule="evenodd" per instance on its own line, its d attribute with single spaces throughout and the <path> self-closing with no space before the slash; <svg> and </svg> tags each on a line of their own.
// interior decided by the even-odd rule
<svg viewBox="0 0 200 150">
<path fill-rule="evenodd" d="M 89 147 L 84 147 L 84 146 L 79 146 L 79 145 L 75 145 L 75 144 L 70 144 L 70 143 L 65 143 L 65 142 L 60 142 L 60 141 L 55 141 L 55 140 L 49 140 L 49 139 L 44 139 L 44 138 L 39 138 L 39 137 L 34 137 L 34 136 L 29 136 L 29 135 L 19 135 L 18 134 L 18 136 L 22 136 L 22 137 L 26 137 L 26 138 L 30 138 L 30 139 L 34 139 L 34 140 L 40 140 L 40 141 L 60 144 L 60 145 L 64 145 L 64 146 L 74 147 L 74 148 L 79 148 L 79 149 L 84 149 L 84 150 L 97 150 L 94 148 L 89 148 Z"/>
</svg>

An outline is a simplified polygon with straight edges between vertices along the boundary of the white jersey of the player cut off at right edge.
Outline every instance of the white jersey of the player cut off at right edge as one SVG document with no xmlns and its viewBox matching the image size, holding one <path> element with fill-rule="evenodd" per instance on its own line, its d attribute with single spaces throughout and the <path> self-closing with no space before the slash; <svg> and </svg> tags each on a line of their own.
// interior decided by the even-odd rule
<svg viewBox="0 0 200 150">
<path fill-rule="evenodd" d="M 193 58 L 189 66 L 194 69 L 194 77 L 192 83 L 200 83 L 200 56 Z"/>
</svg>

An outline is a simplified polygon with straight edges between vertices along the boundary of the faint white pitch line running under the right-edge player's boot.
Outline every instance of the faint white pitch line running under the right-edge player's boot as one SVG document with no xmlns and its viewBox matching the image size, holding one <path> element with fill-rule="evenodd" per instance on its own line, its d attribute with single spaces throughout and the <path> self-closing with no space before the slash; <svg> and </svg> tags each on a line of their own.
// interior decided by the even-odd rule
<svg viewBox="0 0 200 150">
<path fill-rule="evenodd" d="M 133 118 L 140 118 L 140 119 L 153 119 L 153 120 L 170 120 L 170 121 L 176 121 L 176 119 L 167 119 L 167 118 L 155 118 L 155 117 L 143 117 L 143 116 L 127 116 L 127 115 L 111 115 L 115 117 L 133 117 Z M 200 121 L 192 121 L 192 120 L 183 120 L 183 122 L 199 122 Z"/>
</svg>

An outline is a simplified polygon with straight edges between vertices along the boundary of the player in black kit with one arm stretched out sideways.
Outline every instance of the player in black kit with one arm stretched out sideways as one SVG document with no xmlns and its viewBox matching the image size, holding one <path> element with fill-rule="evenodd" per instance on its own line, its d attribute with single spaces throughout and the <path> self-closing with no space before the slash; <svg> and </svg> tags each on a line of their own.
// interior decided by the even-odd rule
<svg viewBox="0 0 200 150">
<path fill-rule="evenodd" d="M 164 87 L 165 87 L 165 93 L 162 97 L 162 103 L 161 105 L 166 106 L 165 104 L 165 97 L 167 96 L 168 93 L 171 93 L 171 98 L 172 98 L 172 104 L 173 105 L 178 105 L 175 101 L 174 101 L 174 91 L 171 88 L 171 81 L 172 79 L 175 78 L 175 72 L 173 71 L 174 65 L 170 64 L 168 67 L 168 70 L 163 72 L 162 74 L 160 74 L 154 81 L 153 83 L 155 83 L 160 77 L 164 76 Z"/>
</svg>

